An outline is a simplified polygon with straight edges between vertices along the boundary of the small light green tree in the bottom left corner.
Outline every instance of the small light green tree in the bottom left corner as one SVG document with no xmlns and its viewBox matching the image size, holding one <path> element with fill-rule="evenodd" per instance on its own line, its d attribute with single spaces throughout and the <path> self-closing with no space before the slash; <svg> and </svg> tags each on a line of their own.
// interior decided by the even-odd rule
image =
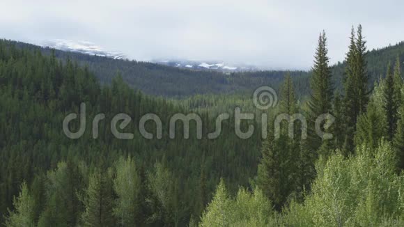
<svg viewBox="0 0 404 227">
<path fill-rule="evenodd" d="M 31 227 L 34 224 L 35 201 L 29 194 L 28 187 L 26 183 L 23 182 L 21 185 L 21 192 L 17 198 L 14 198 L 13 212 L 10 211 L 10 215 L 6 218 L 6 226 L 8 227 Z"/>
</svg>

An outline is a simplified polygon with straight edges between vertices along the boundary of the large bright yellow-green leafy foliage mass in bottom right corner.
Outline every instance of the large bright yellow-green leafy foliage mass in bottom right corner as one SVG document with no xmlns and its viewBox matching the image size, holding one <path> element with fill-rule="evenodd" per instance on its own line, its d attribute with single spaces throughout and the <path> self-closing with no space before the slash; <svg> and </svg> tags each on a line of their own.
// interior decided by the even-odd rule
<svg viewBox="0 0 404 227">
<path fill-rule="evenodd" d="M 389 143 L 380 143 L 374 152 L 359 146 L 356 152 L 349 159 L 332 156 L 314 182 L 304 207 L 315 226 L 378 226 L 402 216 L 404 181 L 395 173 L 396 157 Z"/>
</svg>

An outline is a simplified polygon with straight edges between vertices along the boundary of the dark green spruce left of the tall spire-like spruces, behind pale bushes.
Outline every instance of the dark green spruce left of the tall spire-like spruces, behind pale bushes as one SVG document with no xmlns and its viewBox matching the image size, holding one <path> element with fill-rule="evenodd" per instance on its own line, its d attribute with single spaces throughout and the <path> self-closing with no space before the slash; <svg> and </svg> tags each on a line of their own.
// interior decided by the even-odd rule
<svg viewBox="0 0 404 227">
<path fill-rule="evenodd" d="M 296 98 L 292 79 L 286 75 L 279 92 L 279 114 L 292 116 L 296 113 Z M 274 204 L 276 210 L 281 210 L 288 196 L 297 189 L 300 173 L 297 173 L 300 157 L 300 139 L 298 127 L 295 124 L 293 138 L 288 134 L 288 122 L 283 120 L 276 139 L 272 130 L 268 132 L 263 142 L 262 158 L 258 165 L 257 185 Z M 272 127 L 270 127 L 272 128 Z"/>
</svg>

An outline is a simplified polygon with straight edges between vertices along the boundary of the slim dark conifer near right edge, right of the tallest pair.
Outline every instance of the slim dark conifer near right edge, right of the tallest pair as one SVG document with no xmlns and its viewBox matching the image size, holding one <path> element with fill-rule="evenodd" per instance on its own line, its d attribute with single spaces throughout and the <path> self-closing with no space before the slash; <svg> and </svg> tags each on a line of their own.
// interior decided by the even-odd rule
<svg viewBox="0 0 404 227">
<path fill-rule="evenodd" d="M 387 118 L 387 125 L 386 125 L 386 132 L 387 132 L 387 139 L 391 141 L 396 133 L 397 127 L 397 118 L 398 118 L 398 98 L 397 93 L 395 91 L 395 84 L 394 82 L 394 75 L 391 72 L 391 64 L 387 65 L 387 75 L 384 84 L 383 96 L 384 96 L 384 113 L 386 113 Z"/>
</svg>

